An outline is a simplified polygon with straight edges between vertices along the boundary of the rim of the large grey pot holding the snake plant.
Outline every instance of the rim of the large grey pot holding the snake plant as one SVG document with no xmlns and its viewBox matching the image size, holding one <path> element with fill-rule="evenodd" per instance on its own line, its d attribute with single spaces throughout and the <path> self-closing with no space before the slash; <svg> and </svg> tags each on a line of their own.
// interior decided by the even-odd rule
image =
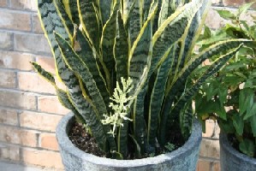
<svg viewBox="0 0 256 171">
<path fill-rule="evenodd" d="M 199 146 L 201 139 L 202 139 L 202 128 L 199 124 L 199 121 L 193 121 L 193 129 L 190 137 L 188 138 L 187 142 L 183 144 L 177 150 L 173 150 L 169 153 L 161 154 L 158 156 L 147 157 L 142 159 L 134 159 L 134 160 L 116 160 L 110 159 L 100 156 L 94 156 L 92 154 L 86 153 L 83 150 L 75 147 L 74 144 L 68 139 L 67 136 L 67 125 L 74 121 L 74 114 L 71 112 L 68 115 L 64 115 L 63 119 L 59 121 L 57 125 L 57 141 L 61 150 L 66 150 L 70 154 L 75 157 L 80 157 L 81 160 L 86 160 L 87 162 L 92 162 L 98 165 L 106 165 L 106 166 L 113 166 L 113 167 L 120 167 L 122 168 L 130 168 L 130 167 L 140 167 L 143 165 L 152 165 L 158 164 L 166 161 L 170 161 L 177 156 L 188 156 L 193 151 L 193 148 Z M 181 161 L 182 162 L 182 161 Z"/>
</svg>

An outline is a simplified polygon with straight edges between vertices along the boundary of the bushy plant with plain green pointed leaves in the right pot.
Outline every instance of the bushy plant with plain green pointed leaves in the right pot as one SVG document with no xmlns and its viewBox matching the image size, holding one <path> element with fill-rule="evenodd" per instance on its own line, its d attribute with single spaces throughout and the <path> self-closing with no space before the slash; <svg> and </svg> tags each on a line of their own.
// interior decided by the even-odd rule
<svg viewBox="0 0 256 171">
<path fill-rule="evenodd" d="M 226 27 L 212 32 L 205 27 L 201 36 L 200 50 L 217 41 L 229 38 L 256 40 L 256 17 L 250 25 L 241 20 L 253 3 L 247 3 L 232 13 L 217 10 L 218 14 L 230 21 Z M 214 60 L 214 59 L 213 59 Z M 199 70 L 203 71 L 208 66 Z M 198 73 L 199 74 L 199 73 Z M 247 44 L 217 74 L 209 78 L 195 98 L 195 110 L 199 119 L 217 120 L 223 133 L 235 137 L 235 146 L 247 156 L 256 156 L 256 45 Z M 234 136 L 235 135 L 235 136 Z"/>
</svg>

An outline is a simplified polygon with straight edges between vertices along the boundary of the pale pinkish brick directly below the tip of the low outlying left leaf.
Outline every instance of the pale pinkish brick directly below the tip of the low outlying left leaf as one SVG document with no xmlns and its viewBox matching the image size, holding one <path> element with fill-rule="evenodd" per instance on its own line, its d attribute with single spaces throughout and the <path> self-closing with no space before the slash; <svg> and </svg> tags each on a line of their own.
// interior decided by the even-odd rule
<svg viewBox="0 0 256 171">
<path fill-rule="evenodd" d="M 56 93 L 54 86 L 37 73 L 19 72 L 18 81 L 19 88 L 24 91 Z"/>
</svg>

